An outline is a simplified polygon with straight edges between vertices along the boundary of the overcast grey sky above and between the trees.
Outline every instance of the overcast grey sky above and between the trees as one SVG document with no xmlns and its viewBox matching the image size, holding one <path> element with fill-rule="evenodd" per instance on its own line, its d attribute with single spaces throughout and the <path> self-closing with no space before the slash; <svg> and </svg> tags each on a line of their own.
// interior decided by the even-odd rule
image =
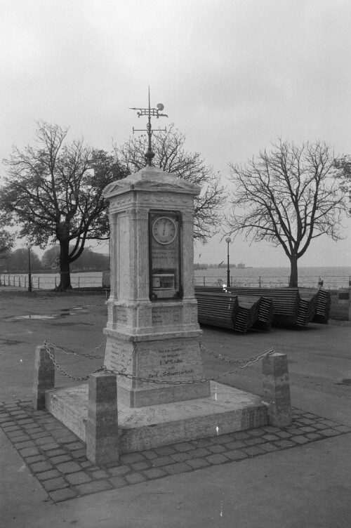
<svg viewBox="0 0 351 528">
<path fill-rule="evenodd" d="M 111 150 L 144 128 L 128 109 L 147 107 L 149 85 L 161 126 L 175 123 L 223 183 L 230 161 L 277 136 L 351 153 L 350 0 L 0 0 L 0 11 L 0 159 L 33 143 L 40 119 Z M 350 265 L 345 226 L 344 241 L 312 242 L 300 265 Z M 220 261 L 227 245 L 199 253 Z M 240 239 L 230 255 L 289 265 L 282 249 Z"/>
</svg>

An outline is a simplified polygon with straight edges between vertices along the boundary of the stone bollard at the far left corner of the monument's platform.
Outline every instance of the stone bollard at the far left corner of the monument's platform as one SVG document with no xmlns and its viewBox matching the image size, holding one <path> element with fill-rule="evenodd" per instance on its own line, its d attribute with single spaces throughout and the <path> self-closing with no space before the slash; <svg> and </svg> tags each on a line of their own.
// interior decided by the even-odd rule
<svg viewBox="0 0 351 528">
<path fill-rule="evenodd" d="M 45 392 L 55 387 L 55 365 L 44 345 L 37 346 L 34 358 L 33 407 L 45 409 Z"/>
</svg>

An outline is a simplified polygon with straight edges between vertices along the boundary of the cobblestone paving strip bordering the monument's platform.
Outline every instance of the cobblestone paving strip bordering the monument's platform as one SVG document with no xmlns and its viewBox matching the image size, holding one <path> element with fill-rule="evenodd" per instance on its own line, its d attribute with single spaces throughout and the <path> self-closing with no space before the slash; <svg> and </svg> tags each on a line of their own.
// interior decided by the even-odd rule
<svg viewBox="0 0 351 528">
<path fill-rule="evenodd" d="M 351 432 L 346 425 L 293 409 L 293 423 L 286 428 L 267 425 L 181 442 L 94 466 L 84 443 L 48 411 L 34 411 L 30 401 L 0 403 L 0 426 L 55 503 Z"/>
</svg>

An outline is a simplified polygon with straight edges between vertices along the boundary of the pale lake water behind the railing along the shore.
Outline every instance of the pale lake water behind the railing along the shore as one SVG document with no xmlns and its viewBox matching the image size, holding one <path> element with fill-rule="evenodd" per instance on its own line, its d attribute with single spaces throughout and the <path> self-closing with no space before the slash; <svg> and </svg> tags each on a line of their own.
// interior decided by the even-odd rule
<svg viewBox="0 0 351 528">
<path fill-rule="evenodd" d="M 230 283 L 232 286 L 249 286 L 262 288 L 270 286 L 288 286 L 290 268 L 231 268 Z M 300 287 L 317 288 L 319 277 L 323 280 L 324 288 L 347 288 L 351 277 L 351 266 L 333 268 L 299 268 L 298 284 Z M 4 274 L 0 275 L 1 284 L 28 287 L 28 275 Z M 53 289 L 60 282 L 58 273 L 33 273 L 33 289 Z M 207 268 L 194 270 L 196 285 L 215 286 L 227 283 L 225 268 Z M 71 284 L 74 288 L 102 286 L 102 272 L 71 273 Z"/>
</svg>

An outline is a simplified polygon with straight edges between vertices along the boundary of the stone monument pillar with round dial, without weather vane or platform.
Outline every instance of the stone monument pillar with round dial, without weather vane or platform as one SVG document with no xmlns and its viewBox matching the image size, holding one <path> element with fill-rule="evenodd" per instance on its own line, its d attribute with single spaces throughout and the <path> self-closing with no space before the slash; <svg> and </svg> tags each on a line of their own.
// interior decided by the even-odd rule
<svg viewBox="0 0 351 528">
<path fill-rule="evenodd" d="M 152 166 L 104 190 L 111 228 L 105 366 L 131 376 L 118 384 L 127 407 L 210 394 L 208 381 L 186 383 L 204 378 L 193 279 L 199 190 Z"/>
</svg>

